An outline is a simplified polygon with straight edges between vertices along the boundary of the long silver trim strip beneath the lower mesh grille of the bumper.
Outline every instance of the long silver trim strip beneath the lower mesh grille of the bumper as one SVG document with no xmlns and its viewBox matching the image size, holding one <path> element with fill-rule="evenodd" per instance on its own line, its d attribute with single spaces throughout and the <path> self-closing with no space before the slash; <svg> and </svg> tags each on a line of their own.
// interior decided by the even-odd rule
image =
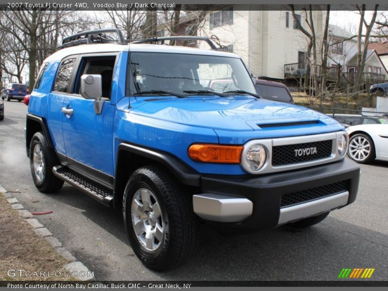
<svg viewBox="0 0 388 291">
<path fill-rule="evenodd" d="M 345 191 L 311 202 L 281 208 L 278 225 L 283 225 L 289 222 L 316 216 L 323 212 L 337 209 L 346 205 L 346 203 L 348 203 L 348 198 L 349 192 Z"/>
</svg>

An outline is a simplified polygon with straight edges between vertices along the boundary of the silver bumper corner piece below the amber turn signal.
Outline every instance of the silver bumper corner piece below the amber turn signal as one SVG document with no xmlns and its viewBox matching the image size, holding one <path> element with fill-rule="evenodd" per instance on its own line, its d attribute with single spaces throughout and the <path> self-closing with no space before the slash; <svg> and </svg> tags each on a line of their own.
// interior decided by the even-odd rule
<svg viewBox="0 0 388 291">
<path fill-rule="evenodd" d="M 253 203 L 246 198 L 219 194 L 193 195 L 194 212 L 218 222 L 239 222 L 252 215 Z"/>
</svg>

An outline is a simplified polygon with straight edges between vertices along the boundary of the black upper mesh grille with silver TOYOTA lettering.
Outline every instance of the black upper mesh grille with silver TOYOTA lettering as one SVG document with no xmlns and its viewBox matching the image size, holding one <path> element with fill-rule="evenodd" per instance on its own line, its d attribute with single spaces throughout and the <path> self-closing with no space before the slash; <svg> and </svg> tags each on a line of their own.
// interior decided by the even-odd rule
<svg viewBox="0 0 388 291">
<path fill-rule="evenodd" d="M 329 158 L 331 156 L 332 146 L 333 140 L 287 146 L 274 146 L 272 148 L 272 165 L 282 166 Z M 316 151 L 314 148 L 316 148 Z"/>
</svg>

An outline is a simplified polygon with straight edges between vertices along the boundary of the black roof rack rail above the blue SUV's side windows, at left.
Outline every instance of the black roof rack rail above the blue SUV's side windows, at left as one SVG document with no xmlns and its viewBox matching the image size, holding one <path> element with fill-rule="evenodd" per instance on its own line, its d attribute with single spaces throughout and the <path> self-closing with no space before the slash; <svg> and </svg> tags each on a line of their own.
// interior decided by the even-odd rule
<svg viewBox="0 0 388 291">
<path fill-rule="evenodd" d="M 117 33 L 118 40 L 109 39 L 104 33 L 115 32 Z M 82 37 L 83 36 L 83 37 Z M 123 33 L 118 28 L 96 29 L 86 32 L 78 32 L 73 35 L 69 35 L 62 40 L 62 45 L 59 48 L 66 48 L 72 46 L 78 46 L 80 44 L 93 44 L 93 43 L 118 43 L 121 45 L 127 44 L 124 39 Z"/>
</svg>

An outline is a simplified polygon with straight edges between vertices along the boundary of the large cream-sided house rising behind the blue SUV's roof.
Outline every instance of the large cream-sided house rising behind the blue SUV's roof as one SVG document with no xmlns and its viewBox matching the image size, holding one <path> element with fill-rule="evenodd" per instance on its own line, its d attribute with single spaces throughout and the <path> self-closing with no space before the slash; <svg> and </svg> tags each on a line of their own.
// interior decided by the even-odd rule
<svg viewBox="0 0 388 291">
<path fill-rule="evenodd" d="M 235 52 L 255 77 L 284 80 L 284 65 L 306 61 L 307 37 L 301 32 L 291 11 L 253 10 L 250 5 L 233 5 L 209 11 L 198 31 L 216 37 L 221 45 Z M 295 12 L 306 25 L 304 12 Z M 313 11 L 318 37 L 323 35 L 324 12 Z M 199 44 L 206 48 L 206 44 Z"/>
</svg>

